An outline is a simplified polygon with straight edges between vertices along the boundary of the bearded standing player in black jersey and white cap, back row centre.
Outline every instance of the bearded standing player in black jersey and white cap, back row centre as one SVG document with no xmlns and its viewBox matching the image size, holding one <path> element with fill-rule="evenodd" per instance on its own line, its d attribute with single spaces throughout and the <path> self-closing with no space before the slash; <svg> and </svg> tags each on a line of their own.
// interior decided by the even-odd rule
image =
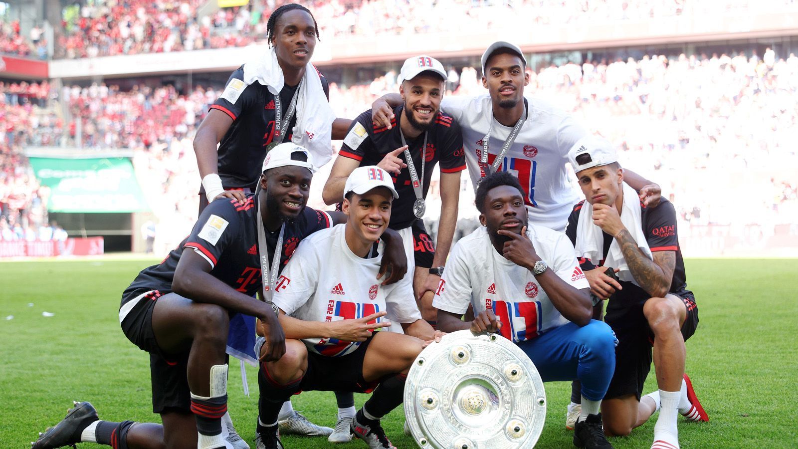
<svg viewBox="0 0 798 449">
<path fill-rule="evenodd" d="M 406 240 L 408 263 L 415 266 L 413 290 L 422 316 L 434 324 L 437 311 L 432 307 L 433 296 L 457 221 L 460 172 L 465 169 L 463 138 L 460 125 L 440 112 L 446 81 L 440 62 L 425 55 L 409 58 L 399 81 L 402 104 L 393 109 L 391 129 L 373 125 L 371 109 L 361 113 L 346 134 L 322 195 L 328 205 L 342 201 L 346 178 L 358 166 L 378 165 L 392 173 L 399 198 L 393 203 L 389 225 L 400 230 Z M 421 217 L 438 162 L 440 224 L 433 246 Z"/>
</svg>

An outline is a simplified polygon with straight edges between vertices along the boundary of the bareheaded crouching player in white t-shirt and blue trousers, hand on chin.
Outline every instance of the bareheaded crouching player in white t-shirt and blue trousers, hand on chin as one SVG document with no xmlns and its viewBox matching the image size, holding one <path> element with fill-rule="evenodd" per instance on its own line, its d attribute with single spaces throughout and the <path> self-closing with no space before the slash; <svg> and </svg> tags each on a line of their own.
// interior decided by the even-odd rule
<svg viewBox="0 0 798 449">
<path fill-rule="evenodd" d="M 577 447 L 612 447 L 601 399 L 615 368 L 610 327 L 591 320 L 590 285 L 562 232 L 528 223 L 518 179 L 498 172 L 476 190 L 478 228 L 452 248 L 433 300 L 444 332 L 500 332 L 529 356 L 543 382 L 582 381 Z M 475 318 L 461 317 L 471 304 Z"/>
</svg>

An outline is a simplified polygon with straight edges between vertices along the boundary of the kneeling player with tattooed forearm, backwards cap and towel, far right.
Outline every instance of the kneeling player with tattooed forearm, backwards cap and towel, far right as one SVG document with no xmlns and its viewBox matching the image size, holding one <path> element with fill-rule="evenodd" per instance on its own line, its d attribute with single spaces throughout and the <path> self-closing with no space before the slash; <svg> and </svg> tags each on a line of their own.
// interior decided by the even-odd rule
<svg viewBox="0 0 798 449">
<path fill-rule="evenodd" d="M 685 374 L 685 340 L 696 330 L 698 308 L 685 282 L 674 205 L 665 199 L 657 208 L 643 205 L 623 184 L 623 170 L 605 139 L 583 137 L 568 159 L 587 200 L 575 206 L 567 235 L 599 313 L 600 300 L 609 298 L 605 320 L 619 340 L 602 402 L 604 429 L 607 435 L 629 435 L 662 407 L 651 447 L 678 448 L 677 411 L 693 421 L 709 417 Z M 641 400 L 652 345 L 659 391 Z"/>
</svg>

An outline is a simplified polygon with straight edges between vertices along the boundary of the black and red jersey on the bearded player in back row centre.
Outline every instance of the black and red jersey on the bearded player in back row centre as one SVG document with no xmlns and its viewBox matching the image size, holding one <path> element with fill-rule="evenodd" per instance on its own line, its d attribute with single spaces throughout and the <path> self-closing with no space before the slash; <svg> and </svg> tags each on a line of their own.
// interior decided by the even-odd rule
<svg viewBox="0 0 798 449">
<path fill-rule="evenodd" d="M 360 166 L 377 165 L 385 154 L 402 146 L 397 126 L 396 117 L 403 114 L 403 106 L 393 108 L 394 118 L 391 121 L 391 129 L 384 126 L 373 125 L 371 109 L 361 113 L 350 125 L 347 138 L 344 140 L 341 156 L 350 157 L 360 161 Z M 401 117 L 401 120 L 407 120 Z M 358 130 L 364 130 L 366 135 L 358 137 Z M 413 164 L 416 165 L 416 172 L 421 177 L 421 145 L 424 143 L 424 133 L 414 139 L 408 139 L 410 155 L 413 157 Z M 356 147 L 356 148 L 353 148 Z M 405 155 L 401 154 L 400 159 L 405 160 Z M 452 117 L 444 113 L 438 113 L 435 122 L 428 130 L 427 152 L 425 155 L 426 165 L 424 169 L 424 197 L 427 197 L 429 181 L 433 177 L 433 168 L 440 161 L 440 171 L 442 173 L 460 172 L 465 169 L 465 153 L 463 152 L 463 136 L 460 133 L 460 125 L 452 120 Z M 393 185 L 399 193 L 399 198 L 393 201 L 391 208 L 391 222 L 389 227 L 392 229 L 403 229 L 417 221 L 413 214 L 413 203 L 416 202 L 416 193 L 410 181 L 410 170 L 402 169 L 399 176 L 393 177 Z"/>
</svg>

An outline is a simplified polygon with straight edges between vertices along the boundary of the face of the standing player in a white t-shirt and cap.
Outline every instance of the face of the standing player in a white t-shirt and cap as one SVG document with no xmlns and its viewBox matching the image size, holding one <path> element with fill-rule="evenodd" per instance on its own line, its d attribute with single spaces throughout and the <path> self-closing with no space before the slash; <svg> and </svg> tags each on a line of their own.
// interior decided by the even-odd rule
<svg viewBox="0 0 798 449">
<path fill-rule="evenodd" d="M 485 63 L 482 85 L 491 101 L 504 109 L 512 109 L 523 98 L 523 86 L 529 84 L 523 60 L 512 53 L 495 53 Z"/>
</svg>

